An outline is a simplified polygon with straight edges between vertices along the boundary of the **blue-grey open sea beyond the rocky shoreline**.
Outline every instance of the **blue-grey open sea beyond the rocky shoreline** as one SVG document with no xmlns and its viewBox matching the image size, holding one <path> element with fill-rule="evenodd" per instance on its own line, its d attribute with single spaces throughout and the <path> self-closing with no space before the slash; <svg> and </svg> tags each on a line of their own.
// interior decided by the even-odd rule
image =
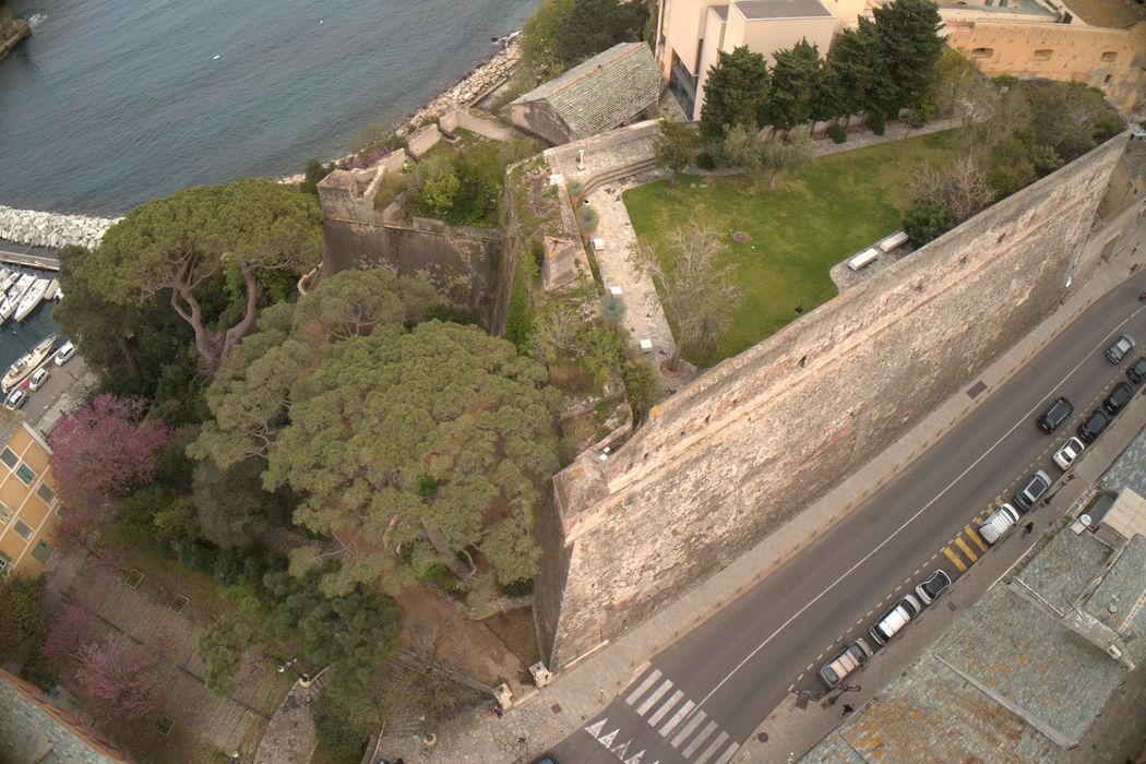
<svg viewBox="0 0 1146 764">
<path fill-rule="evenodd" d="M 540 0 L 14 0 L 0 204 L 118 215 L 301 172 L 454 84 Z"/>
</svg>

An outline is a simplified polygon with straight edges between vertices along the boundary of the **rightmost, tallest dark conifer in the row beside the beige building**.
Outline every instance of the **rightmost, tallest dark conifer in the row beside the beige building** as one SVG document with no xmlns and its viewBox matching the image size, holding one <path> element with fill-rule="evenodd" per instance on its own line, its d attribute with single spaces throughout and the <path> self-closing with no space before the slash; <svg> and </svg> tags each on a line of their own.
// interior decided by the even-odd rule
<svg viewBox="0 0 1146 764">
<path fill-rule="evenodd" d="M 894 0 L 872 13 L 892 80 L 887 113 L 894 116 L 900 109 L 918 107 L 927 96 L 943 54 L 942 18 L 931 0 Z"/>
</svg>

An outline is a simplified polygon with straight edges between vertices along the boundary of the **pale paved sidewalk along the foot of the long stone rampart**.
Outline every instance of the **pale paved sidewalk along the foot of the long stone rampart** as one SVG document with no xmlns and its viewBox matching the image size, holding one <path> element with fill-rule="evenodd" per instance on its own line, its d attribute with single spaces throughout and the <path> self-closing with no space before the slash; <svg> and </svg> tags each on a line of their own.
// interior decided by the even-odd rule
<svg viewBox="0 0 1146 764">
<path fill-rule="evenodd" d="M 1132 214 L 1128 211 L 1125 214 Z M 1116 227 L 1123 214 L 1107 223 Z M 1141 226 L 1137 235 L 1141 234 Z M 1101 229 L 1099 230 L 1099 233 Z M 1104 236 L 1092 234 L 1088 246 L 1097 246 Z M 1129 258 L 1115 258 L 1104 263 L 1082 289 L 1077 290 L 1042 324 L 1010 351 L 996 359 L 967 387 L 982 383 L 983 391 L 997 388 L 1041 351 L 1061 329 L 1070 323 L 1093 300 L 1128 276 Z M 575 732 L 599 714 L 641 670 L 643 663 L 714 612 L 736 599 L 741 592 L 764 578 L 774 569 L 809 545 L 825 528 L 832 526 L 874 491 L 892 480 L 906 464 L 926 451 L 944 433 L 970 413 L 984 395 L 974 399 L 963 391 L 939 409 L 920 419 L 901 441 L 877 456 L 840 486 L 804 510 L 778 531 L 749 552 L 715 574 L 676 602 L 645 621 L 596 653 L 564 669 L 554 683 L 541 691 L 515 699 L 516 706 L 504 718 L 488 717 L 476 711 L 448 728 L 433 730 L 438 743 L 432 749 L 416 741 L 385 740 L 380 750 L 390 758 L 415 762 L 523 762 L 537 756 L 549 746 Z M 1082 482 L 1082 481 L 1080 481 Z M 984 575 L 982 566 L 975 575 Z M 906 639 L 906 638 L 905 638 Z M 902 643 L 901 643 L 902 644 Z M 874 676 L 872 677 L 876 678 Z M 874 684 L 878 684 L 876 682 Z M 873 685 L 874 686 L 874 685 Z M 784 706 L 776 714 L 783 714 Z M 770 717 L 778 718 L 776 714 Z M 777 722 L 778 724 L 778 722 Z M 818 727 L 816 727 L 818 730 Z M 793 743 L 802 739 L 793 733 Z M 806 732 L 804 738 L 810 735 Z M 822 735 L 821 735 L 822 737 Z M 818 738 L 816 739 L 818 740 Z M 811 742 L 816 742 L 813 740 Z M 772 746 L 769 759 L 777 755 Z M 798 753 L 791 748 L 792 753 Z M 785 750 L 784 754 L 787 754 Z M 746 754 L 747 755 L 747 754 Z M 741 761 L 752 761 L 741 757 Z"/>
</svg>

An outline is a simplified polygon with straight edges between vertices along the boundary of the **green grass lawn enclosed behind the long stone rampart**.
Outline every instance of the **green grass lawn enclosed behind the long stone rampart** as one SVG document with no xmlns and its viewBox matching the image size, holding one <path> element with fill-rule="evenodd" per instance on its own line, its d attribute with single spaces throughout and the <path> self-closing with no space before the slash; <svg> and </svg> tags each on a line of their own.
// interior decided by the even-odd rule
<svg viewBox="0 0 1146 764">
<path fill-rule="evenodd" d="M 898 230 L 915 168 L 925 160 L 945 164 L 960 147 L 959 131 L 945 131 L 815 159 L 780 175 L 776 188 L 768 188 L 770 173 L 759 172 L 682 175 L 676 189 L 661 180 L 626 191 L 642 241 L 659 247 L 674 227 L 705 223 L 723 234 L 724 262 L 736 266 L 744 301 L 732 328 L 714 353 L 685 351 L 684 357 L 713 365 L 796 318 L 798 306 L 807 312 L 835 297 L 831 267 Z M 733 231 L 748 241 L 733 243 Z"/>
</svg>

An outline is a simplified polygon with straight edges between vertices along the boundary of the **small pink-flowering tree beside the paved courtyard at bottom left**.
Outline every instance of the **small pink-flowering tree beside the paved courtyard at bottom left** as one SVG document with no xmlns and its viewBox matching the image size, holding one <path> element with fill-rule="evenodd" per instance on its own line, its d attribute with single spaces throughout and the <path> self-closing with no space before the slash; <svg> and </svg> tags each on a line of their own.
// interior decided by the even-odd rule
<svg viewBox="0 0 1146 764">
<path fill-rule="evenodd" d="M 76 657 L 76 684 L 97 719 L 132 720 L 156 706 L 163 645 L 135 645 L 126 637 L 88 643 Z"/>
</svg>

